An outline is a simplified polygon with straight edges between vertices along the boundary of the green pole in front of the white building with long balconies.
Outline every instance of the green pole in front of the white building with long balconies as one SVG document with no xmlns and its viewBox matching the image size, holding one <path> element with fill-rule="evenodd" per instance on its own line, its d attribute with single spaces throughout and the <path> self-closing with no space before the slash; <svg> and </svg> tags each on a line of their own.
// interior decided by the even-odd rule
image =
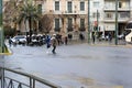
<svg viewBox="0 0 132 88">
<path fill-rule="evenodd" d="M 116 0 L 116 31 L 114 31 L 114 37 L 116 37 L 116 45 L 118 45 L 118 0 Z"/>
</svg>

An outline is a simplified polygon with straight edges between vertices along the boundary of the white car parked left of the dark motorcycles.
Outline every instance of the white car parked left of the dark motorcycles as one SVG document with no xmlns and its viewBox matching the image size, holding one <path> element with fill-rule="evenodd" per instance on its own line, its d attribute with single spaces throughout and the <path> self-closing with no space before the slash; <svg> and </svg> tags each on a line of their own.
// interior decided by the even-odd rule
<svg viewBox="0 0 132 88">
<path fill-rule="evenodd" d="M 25 35 L 15 35 L 14 37 L 11 38 L 11 42 L 13 44 L 25 44 L 26 37 Z"/>
</svg>

